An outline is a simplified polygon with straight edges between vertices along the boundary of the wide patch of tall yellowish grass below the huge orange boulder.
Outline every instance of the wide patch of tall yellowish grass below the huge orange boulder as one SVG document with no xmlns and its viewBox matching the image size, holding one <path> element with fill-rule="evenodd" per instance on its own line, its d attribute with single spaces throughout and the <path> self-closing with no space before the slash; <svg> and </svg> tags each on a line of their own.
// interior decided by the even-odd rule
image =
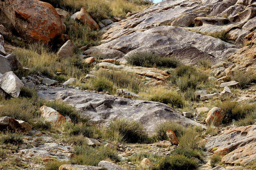
<svg viewBox="0 0 256 170">
<path fill-rule="evenodd" d="M 13 50 L 13 53 L 24 67 L 29 68 L 30 74 L 43 74 L 48 78 L 58 79 L 58 76 L 54 76 L 54 74 L 65 72 L 67 76 L 63 81 L 68 78 L 81 80 L 89 70 L 89 65 L 83 64 L 79 55 L 74 54 L 59 62 L 57 55 L 41 43 L 30 44 L 28 49 L 17 48 Z"/>
</svg>

